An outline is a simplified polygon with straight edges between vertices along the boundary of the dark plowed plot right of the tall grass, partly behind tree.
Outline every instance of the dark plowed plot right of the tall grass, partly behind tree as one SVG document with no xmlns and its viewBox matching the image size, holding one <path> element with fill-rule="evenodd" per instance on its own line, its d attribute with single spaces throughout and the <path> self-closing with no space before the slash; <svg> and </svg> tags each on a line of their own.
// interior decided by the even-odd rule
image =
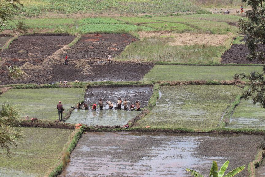
<svg viewBox="0 0 265 177">
<path fill-rule="evenodd" d="M 259 45 L 259 48 L 265 50 L 265 46 Z M 261 64 L 259 60 L 249 61 L 246 59 L 249 54 L 247 45 L 234 44 L 222 56 L 221 63 L 254 63 Z"/>
</svg>

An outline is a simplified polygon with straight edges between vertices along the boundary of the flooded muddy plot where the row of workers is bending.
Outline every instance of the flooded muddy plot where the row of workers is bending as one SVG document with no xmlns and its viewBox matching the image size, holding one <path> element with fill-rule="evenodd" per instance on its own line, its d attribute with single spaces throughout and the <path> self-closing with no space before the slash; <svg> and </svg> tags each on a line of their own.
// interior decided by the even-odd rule
<svg viewBox="0 0 265 177">
<path fill-rule="evenodd" d="M 87 125 L 125 125 L 129 120 L 136 117 L 139 111 L 129 111 L 130 105 L 135 104 L 138 100 L 141 103 L 141 108 L 148 105 L 148 101 L 153 93 L 152 86 L 145 87 L 93 87 L 89 88 L 85 94 L 85 102 L 89 106 L 89 110 L 74 110 L 67 123 L 84 123 Z M 115 110 L 117 100 L 121 97 L 122 102 L 128 101 L 128 111 Z M 103 111 L 99 110 L 98 101 L 102 98 Z M 108 110 L 109 106 L 106 101 L 113 103 L 113 110 Z M 92 105 L 98 105 L 96 111 L 91 111 Z M 122 109 L 124 108 L 122 104 Z"/>
</svg>

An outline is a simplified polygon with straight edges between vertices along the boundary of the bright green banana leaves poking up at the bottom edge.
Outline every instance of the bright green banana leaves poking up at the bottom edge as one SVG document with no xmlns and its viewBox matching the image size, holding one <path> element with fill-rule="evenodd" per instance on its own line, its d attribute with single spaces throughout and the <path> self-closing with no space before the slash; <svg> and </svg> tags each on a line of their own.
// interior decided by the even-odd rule
<svg viewBox="0 0 265 177">
<path fill-rule="evenodd" d="M 220 170 L 218 171 L 217 163 L 216 163 L 216 161 L 213 161 L 209 176 L 210 177 L 232 177 L 232 176 L 235 176 L 236 174 L 240 173 L 242 170 L 244 170 L 246 168 L 245 165 L 241 166 L 241 167 L 237 167 L 224 176 L 225 170 L 228 167 L 228 164 L 229 164 L 229 161 L 226 161 L 223 164 L 223 166 L 220 168 Z M 203 175 L 199 174 L 197 171 L 191 170 L 189 168 L 187 168 L 187 171 L 191 172 L 191 175 L 194 177 L 204 177 Z"/>
</svg>

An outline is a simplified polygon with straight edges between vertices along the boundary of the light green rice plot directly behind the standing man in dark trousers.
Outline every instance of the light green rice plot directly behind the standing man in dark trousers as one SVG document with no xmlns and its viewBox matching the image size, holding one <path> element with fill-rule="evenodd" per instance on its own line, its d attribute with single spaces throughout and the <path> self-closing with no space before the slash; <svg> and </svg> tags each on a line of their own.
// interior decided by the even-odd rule
<svg viewBox="0 0 265 177">
<path fill-rule="evenodd" d="M 17 105 L 22 117 L 57 120 L 58 101 L 62 101 L 66 111 L 84 99 L 84 92 L 82 88 L 11 89 L 0 95 L 0 104 L 8 101 Z"/>
</svg>

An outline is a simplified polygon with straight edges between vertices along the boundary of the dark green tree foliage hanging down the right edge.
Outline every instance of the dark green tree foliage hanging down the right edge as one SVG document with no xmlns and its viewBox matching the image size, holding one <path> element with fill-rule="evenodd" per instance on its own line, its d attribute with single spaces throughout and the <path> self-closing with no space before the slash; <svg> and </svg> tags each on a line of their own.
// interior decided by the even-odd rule
<svg viewBox="0 0 265 177">
<path fill-rule="evenodd" d="M 240 78 L 249 79 L 250 89 L 245 91 L 243 97 L 248 100 L 252 98 L 252 103 L 260 103 L 265 108 L 265 52 L 260 46 L 265 44 L 265 16 L 264 16 L 264 0 L 242 0 L 251 6 L 251 10 L 246 11 L 248 20 L 239 20 L 239 26 L 246 35 L 246 45 L 250 51 L 247 56 L 248 60 L 259 60 L 263 63 L 263 72 L 250 74 L 236 74 L 235 80 Z"/>
</svg>

